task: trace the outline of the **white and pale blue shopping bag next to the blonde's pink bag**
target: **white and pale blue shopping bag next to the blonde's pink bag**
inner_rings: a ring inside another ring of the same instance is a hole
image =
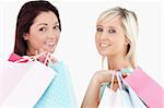
[[[137,96],[137,94],[125,82],[120,72],[116,73],[119,89],[117,91],[115,105],[118,108],[147,108],[147,105]]]

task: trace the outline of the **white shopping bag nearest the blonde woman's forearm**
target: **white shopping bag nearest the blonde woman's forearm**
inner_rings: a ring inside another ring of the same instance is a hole
[[[114,107],[115,97],[116,97],[116,92],[113,91],[114,77],[115,77],[115,74],[112,74],[112,83],[109,87],[107,86],[105,87],[98,108]]]

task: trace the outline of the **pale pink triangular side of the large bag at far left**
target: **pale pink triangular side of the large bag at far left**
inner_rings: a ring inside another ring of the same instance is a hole
[[[0,62],[0,104],[28,71],[27,65]]]

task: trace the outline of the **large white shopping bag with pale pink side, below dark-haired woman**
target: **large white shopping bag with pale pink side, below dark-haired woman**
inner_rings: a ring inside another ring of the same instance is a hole
[[[42,97],[56,72],[34,61],[4,61],[0,79],[0,108],[32,108]]]

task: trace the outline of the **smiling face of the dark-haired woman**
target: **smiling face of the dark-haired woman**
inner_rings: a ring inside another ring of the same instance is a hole
[[[36,51],[54,52],[60,37],[59,22],[51,11],[38,14],[30,32],[24,35],[27,40],[27,53],[35,55]]]

